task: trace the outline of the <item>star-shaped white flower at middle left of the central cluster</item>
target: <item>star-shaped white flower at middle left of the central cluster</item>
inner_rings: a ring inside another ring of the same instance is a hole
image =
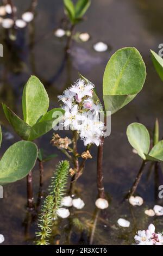
[[[78,113],[78,105],[74,105],[72,109],[65,108],[64,115],[64,126],[70,128],[72,130],[78,130],[79,121],[85,119],[85,116]]]

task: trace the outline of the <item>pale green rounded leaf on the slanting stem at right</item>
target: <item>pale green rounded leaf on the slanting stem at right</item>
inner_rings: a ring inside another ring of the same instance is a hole
[[[139,123],[133,123],[127,127],[127,137],[131,146],[137,150],[137,153],[146,160],[150,147],[150,137],[147,128]]]

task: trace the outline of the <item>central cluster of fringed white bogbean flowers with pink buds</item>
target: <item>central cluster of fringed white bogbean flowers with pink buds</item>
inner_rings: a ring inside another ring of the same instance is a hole
[[[104,123],[99,120],[102,106],[93,99],[93,88],[92,83],[79,79],[58,96],[64,103],[64,127],[76,130],[85,146],[92,143],[98,146],[104,130]]]

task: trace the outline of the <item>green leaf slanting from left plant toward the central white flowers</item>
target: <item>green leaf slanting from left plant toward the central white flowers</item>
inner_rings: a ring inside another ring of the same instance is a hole
[[[32,127],[32,131],[28,138],[29,141],[34,141],[34,139],[41,137],[48,131],[51,131],[55,125],[59,123],[63,117],[64,110],[61,108],[54,108],[47,112],[39,121]]]

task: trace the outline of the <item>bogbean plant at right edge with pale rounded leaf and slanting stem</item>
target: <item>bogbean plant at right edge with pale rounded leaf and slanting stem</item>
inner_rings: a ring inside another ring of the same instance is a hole
[[[133,196],[140,182],[144,167],[147,162],[163,161],[163,140],[159,141],[159,124],[155,122],[153,147],[150,148],[151,139],[147,128],[139,123],[130,124],[127,127],[127,137],[131,146],[137,151],[137,154],[143,159],[139,173],[136,176],[128,197]]]

